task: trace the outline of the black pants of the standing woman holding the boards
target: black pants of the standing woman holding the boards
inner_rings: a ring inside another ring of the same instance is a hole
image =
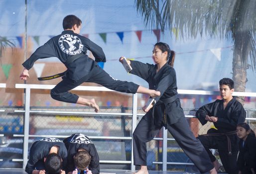
[[[134,165],[146,166],[146,142],[152,140],[159,132],[160,128],[151,131],[151,112],[147,112],[142,117],[133,132]],[[184,116],[182,116],[177,123],[168,125],[168,131],[201,173],[206,173],[213,169],[213,165],[205,148],[200,141],[195,138]]]

